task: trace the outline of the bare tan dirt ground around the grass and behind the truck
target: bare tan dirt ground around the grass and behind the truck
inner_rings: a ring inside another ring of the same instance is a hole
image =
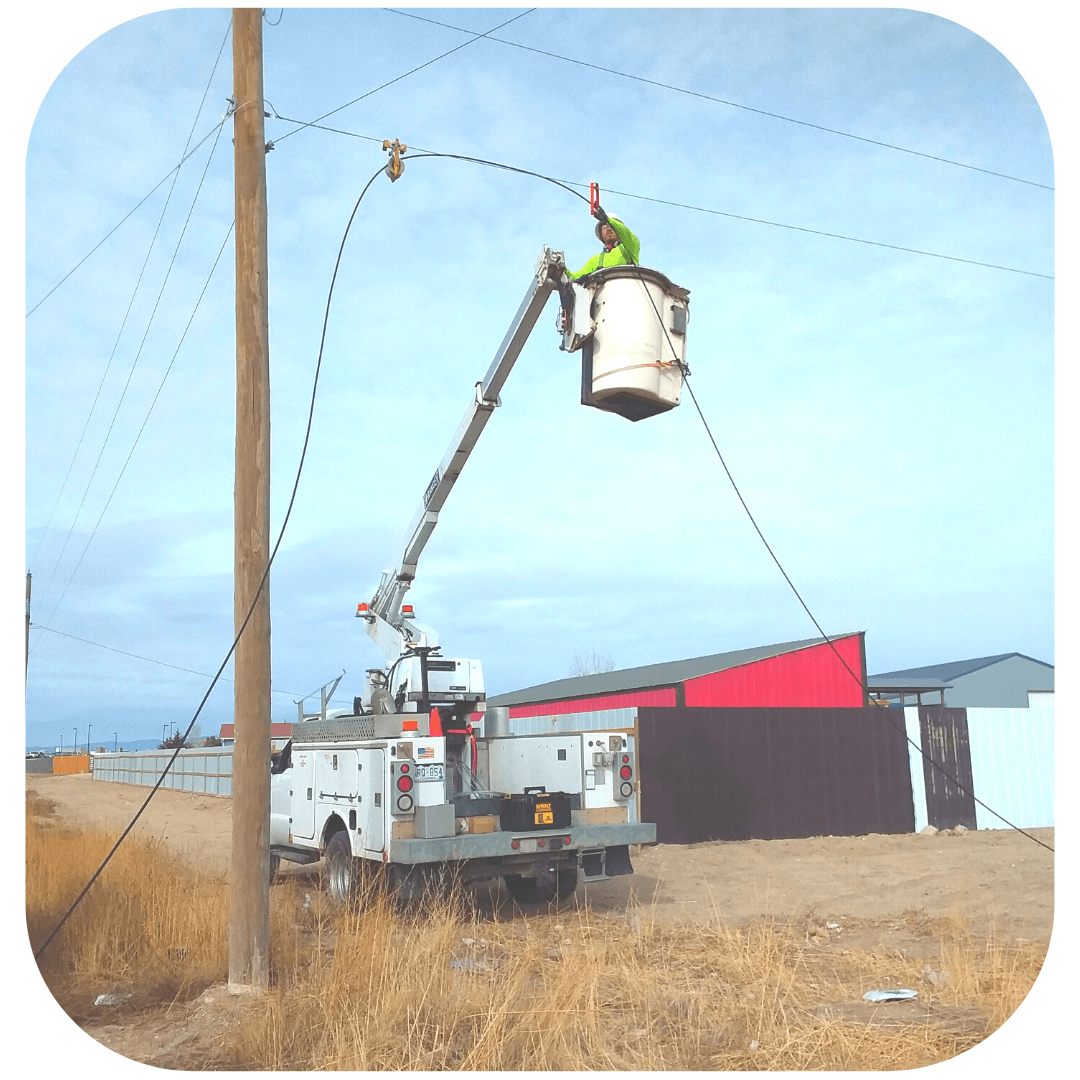
[[[149,793],[85,774],[27,775],[26,786],[52,800],[60,820],[70,815],[85,826],[117,831]],[[136,831],[190,862],[227,870],[231,810],[226,798],[162,789]],[[1054,846],[1053,829],[1031,835]],[[993,931],[1012,943],[1048,942],[1053,924],[1054,854],[1009,829],[661,845],[635,850],[633,862],[633,876],[579,888],[570,904],[588,902],[593,918],[612,921],[640,918],[643,909],[671,923],[804,921],[826,946],[928,957],[937,946],[926,928],[939,918],[959,915],[976,934]],[[316,880],[312,867],[282,867],[283,874]],[[482,915],[512,916],[497,883],[481,889],[476,903]],[[168,1041],[170,1030],[166,1024],[160,1032],[143,1032],[143,1040]],[[119,1031],[116,1039],[107,1026],[90,1034],[124,1056],[147,1061],[122,1044]],[[161,1041],[154,1044],[164,1049]],[[153,1063],[159,1061],[166,1065],[162,1058]]]

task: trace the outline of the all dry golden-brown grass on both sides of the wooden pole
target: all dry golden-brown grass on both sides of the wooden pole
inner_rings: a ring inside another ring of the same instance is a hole
[[[113,837],[33,810],[27,923],[37,948]],[[220,876],[129,838],[42,974],[80,1021],[98,993],[131,993],[145,1007],[189,1000],[227,977],[227,903]],[[599,921],[582,906],[484,920],[453,895],[419,909],[375,897],[342,913],[305,879],[275,885],[271,908],[272,989],[244,1002],[224,1045],[207,1050],[217,1067],[915,1068],[1007,1020],[1044,953],[976,940],[959,917],[912,917],[913,933],[936,941],[931,968],[948,973],[930,984],[924,955],[846,948],[805,919],[671,927],[648,908]],[[918,1004],[861,1000],[897,986],[917,988]]]

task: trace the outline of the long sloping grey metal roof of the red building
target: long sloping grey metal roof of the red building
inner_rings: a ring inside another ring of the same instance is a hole
[[[858,631],[855,632],[858,633]],[[831,640],[839,642],[854,634],[835,634]],[[715,652],[707,657],[694,657],[690,660],[671,660],[662,664],[647,664],[644,667],[624,667],[616,672],[598,672],[595,675],[577,675],[572,678],[555,679],[553,683],[541,683],[538,686],[526,687],[524,690],[512,690],[488,698],[488,705],[531,705],[543,701],[564,701],[569,698],[593,698],[608,693],[626,693],[631,690],[648,690],[653,687],[674,686],[687,679],[702,675],[713,675],[716,672],[728,671],[731,667],[742,667],[756,663],[758,660],[769,660],[782,657],[799,649],[809,649],[815,645],[824,645],[821,637],[807,637],[799,642],[783,642],[779,645],[760,645],[754,649],[739,649],[735,652]]]

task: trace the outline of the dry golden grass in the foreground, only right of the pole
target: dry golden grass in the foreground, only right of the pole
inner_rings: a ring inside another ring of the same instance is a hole
[[[453,902],[410,918],[376,901],[283,972],[230,1051],[259,1069],[915,1068],[985,1038],[1042,960],[946,920],[930,928],[932,969],[949,972],[936,987],[924,957],[822,947],[806,922],[627,922],[588,908],[484,922]],[[897,986],[919,989],[914,1010],[861,1000]]]

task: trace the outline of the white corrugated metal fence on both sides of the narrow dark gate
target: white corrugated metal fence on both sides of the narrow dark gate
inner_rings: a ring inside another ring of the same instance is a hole
[[[966,712],[972,795],[1018,828],[1053,827],[1053,708],[968,708]],[[922,748],[919,708],[909,705],[904,716],[908,738]],[[926,765],[919,750],[914,747],[909,760],[915,829],[918,832],[931,824]],[[975,825],[977,828],[1009,827],[978,802],[975,804]]]

